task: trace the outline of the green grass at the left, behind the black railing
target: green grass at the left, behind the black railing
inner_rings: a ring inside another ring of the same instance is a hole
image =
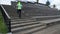
[[[2,33],[2,34],[7,33],[7,27],[4,23],[4,19],[2,17],[1,10],[0,10],[0,33]]]

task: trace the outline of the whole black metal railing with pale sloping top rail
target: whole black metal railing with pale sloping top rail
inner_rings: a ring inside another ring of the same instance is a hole
[[[11,18],[6,12],[6,10],[4,9],[3,5],[0,5],[0,9],[1,9],[1,13],[4,18],[5,24],[8,28],[8,33],[10,33],[11,32]]]

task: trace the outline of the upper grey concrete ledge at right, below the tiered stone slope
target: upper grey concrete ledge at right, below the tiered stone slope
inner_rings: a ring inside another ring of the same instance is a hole
[[[43,20],[51,20],[51,19],[57,19],[60,18],[60,15],[58,16],[36,16],[36,17],[32,17],[35,18],[36,21],[43,21]]]

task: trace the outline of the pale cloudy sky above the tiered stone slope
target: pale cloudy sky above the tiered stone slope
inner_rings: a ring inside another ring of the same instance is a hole
[[[10,5],[11,4],[11,1],[15,1],[15,0],[0,0],[0,4],[7,4],[7,5]],[[36,0],[22,0],[22,1],[36,1]],[[39,0],[39,3],[43,3],[45,4],[47,0]],[[51,7],[52,5],[56,5],[56,8],[60,9],[60,0],[49,0],[50,3],[51,3]]]

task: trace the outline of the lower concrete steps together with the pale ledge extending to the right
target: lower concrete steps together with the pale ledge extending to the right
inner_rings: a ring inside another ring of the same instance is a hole
[[[41,31],[48,26],[58,24],[60,18],[37,21],[35,19],[12,19],[11,31],[13,34],[33,34]]]

